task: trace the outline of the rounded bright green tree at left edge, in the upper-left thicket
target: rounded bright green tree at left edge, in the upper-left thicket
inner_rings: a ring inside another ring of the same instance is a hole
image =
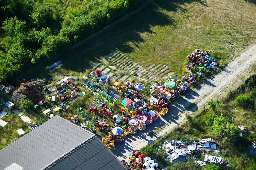
[[[17,35],[18,33],[23,33],[26,28],[26,22],[19,21],[17,17],[7,18],[3,22],[4,34],[10,37]]]

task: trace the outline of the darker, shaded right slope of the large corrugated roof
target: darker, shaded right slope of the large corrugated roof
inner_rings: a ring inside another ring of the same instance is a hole
[[[45,169],[124,170],[126,168],[102,141],[97,136],[94,136]]]

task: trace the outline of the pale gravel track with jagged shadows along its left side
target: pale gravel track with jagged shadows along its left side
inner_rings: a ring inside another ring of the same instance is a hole
[[[219,74],[213,75],[212,79],[205,80],[196,88],[186,92],[182,98],[174,101],[168,114],[156,120],[144,131],[138,131],[135,135],[129,135],[120,145],[115,146],[113,153],[120,159],[129,159],[134,151],[151,143],[158,137],[165,135],[173,128],[185,121],[185,114],[192,114],[194,111],[207,105],[210,99],[216,99],[241,80],[239,77],[247,77],[251,65],[256,63],[256,44],[244,50],[238,57],[230,62]]]

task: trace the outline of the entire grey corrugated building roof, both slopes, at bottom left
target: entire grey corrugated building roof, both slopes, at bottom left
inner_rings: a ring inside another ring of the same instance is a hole
[[[13,166],[26,170],[125,169],[97,136],[59,116],[0,150],[0,170]]]

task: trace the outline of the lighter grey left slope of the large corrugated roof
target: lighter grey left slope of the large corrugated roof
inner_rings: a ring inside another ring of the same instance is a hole
[[[42,169],[94,136],[93,133],[55,116],[1,149],[0,170],[13,163],[27,170]],[[105,146],[103,143],[102,145]]]

